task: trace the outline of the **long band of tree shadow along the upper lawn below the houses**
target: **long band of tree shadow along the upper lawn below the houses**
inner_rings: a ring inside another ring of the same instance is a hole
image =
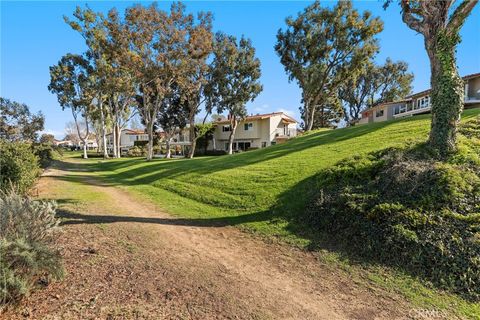
[[[410,119],[402,120],[409,121]],[[398,121],[397,121],[398,122]],[[325,146],[353,137],[360,137],[391,125],[391,121],[374,123],[371,125],[344,128],[338,130],[324,130],[314,132],[299,138],[294,138],[285,144],[275,145],[264,149],[235,154],[232,156],[200,157],[190,159],[155,159],[145,163],[144,159],[111,159],[108,161],[77,162],[72,170],[67,171],[108,171],[104,178],[118,185],[150,184],[159,179],[171,179],[177,176],[195,172],[199,175],[217,173],[223,170],[241,168],[252,164],[269,161],[280,157],[301,152],[312,147]],[[285,147],[288,144],[288,147]],[[139,166],[136,166],[136,165]],[[127,170],[123,170],[126,169]],[[119,171],[119,172],[115,172]],[[112,173],[113,172],[113,173]]]

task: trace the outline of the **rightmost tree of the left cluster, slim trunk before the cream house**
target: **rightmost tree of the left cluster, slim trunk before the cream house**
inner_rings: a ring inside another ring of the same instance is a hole
[[[238,122],[247,116],[245,104],[253,101],[262,91],[258,82],[261,75],[260,60],[249,39],[237,39],[217,33],[214,43],[210,81],[207,87],[207,107],[227,112],[230,120],[228,154],[233,153],[233,140]]]

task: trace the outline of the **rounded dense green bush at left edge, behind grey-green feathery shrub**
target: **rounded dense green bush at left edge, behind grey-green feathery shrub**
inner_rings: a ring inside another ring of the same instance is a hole
[[[0,141],[0,190],[26,193],[40,175],[38,157],[28,143]]]

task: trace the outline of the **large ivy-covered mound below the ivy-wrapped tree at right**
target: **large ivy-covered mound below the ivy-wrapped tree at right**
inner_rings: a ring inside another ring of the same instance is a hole
[[[425,145],[342,161],[320,173],[308,223],[354,256],[477,300],[480,153],[463,142],[460,150],[446,161]]]

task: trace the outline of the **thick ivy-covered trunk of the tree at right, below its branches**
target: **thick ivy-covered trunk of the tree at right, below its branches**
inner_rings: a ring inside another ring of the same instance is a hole
[[[444,32],[426,39],[431,68],[432,124],[429,143],[441,155],[457,149],[457,124],[464,105],[464,83],[455,64],[455,43]]]

